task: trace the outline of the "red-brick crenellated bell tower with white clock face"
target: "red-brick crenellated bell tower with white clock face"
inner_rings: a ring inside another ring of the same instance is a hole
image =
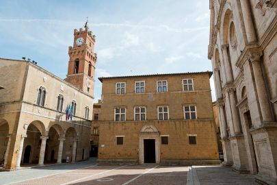
[[[94,53],[95,36],[88,28],[74,29],[73,47],[68,48],[69,62],[66,81],[84,93],[94,95],[94,71],[97,55]]]

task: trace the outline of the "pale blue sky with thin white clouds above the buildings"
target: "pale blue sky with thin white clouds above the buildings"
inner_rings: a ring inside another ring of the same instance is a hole
[[[98,77],[211,71],[209,1],[1,1],[0,58],[38,62],[65,78],[73,29],[96,35],[95,101]],[[211,77],[215,100],[213,77]]]

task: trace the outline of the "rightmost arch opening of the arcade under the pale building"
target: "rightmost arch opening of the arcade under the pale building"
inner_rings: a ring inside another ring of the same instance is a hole
[[[64,142],[62,159],[68,162],[75,162],[77,149],[77,133],[74,127],[69,127],[68,130],[66,130],[65,138],[66,140]]]

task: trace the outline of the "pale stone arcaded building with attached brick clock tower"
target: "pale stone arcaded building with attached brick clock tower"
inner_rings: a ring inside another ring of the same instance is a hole
[[[0,164],[4,169],[89,158],[94,41],[87,26],[74,30],[66,79],[36,62],[0,59]],[[72,119],[66,119],[68,106]]]

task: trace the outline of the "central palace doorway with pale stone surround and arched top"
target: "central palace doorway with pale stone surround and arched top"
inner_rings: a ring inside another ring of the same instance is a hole
[[[140,164],[159,163],[159,132],[153,125],[145,125],[140,131]]]

